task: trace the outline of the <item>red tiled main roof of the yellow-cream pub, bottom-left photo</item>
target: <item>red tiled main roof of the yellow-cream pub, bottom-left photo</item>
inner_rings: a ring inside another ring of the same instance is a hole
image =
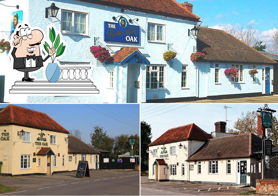
[[[36,129],[70,133],[47,114],[16,105],[8,105],[0,110],[1,124],[14,124]]]

